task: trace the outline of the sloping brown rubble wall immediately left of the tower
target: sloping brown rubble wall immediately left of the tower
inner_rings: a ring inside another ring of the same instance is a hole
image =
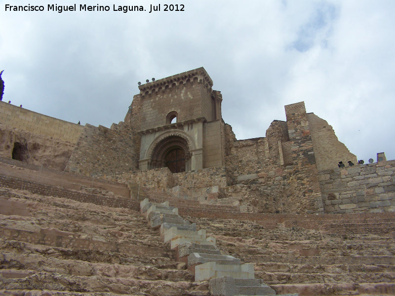
[[[66,170],[85,176],[114,175],[137,169],[139,157],[131,126],[120,122],[111,129],[86,124]]]

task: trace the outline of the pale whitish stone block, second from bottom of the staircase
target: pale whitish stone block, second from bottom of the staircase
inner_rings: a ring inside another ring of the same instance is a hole
[[[254,264],[246,263],[243,265],[217,264],[207,262],[195,267],[195,281],[205,281],[221,276],[231,276],[238,279],[253,279]]]

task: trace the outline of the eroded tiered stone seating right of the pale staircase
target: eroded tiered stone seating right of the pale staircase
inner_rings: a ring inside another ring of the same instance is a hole
[[[314,221],[313,216],[305,219]],[[339,225],[341,216],[335,217]],[[376,233],[370,229],[363,233],[362,217],[354,216],[356,223],[345,216],[344,223],[353,225],[349,233],[341,226],[322,231],[278,223],[268,229],[248,220],[188,219],[206,228],[222,253],[254,263],[255,277],[277,294],[394,295],[394,223],[385,218],[377,223]],[[339,234],[331,233],[339,229],[343,229]]]

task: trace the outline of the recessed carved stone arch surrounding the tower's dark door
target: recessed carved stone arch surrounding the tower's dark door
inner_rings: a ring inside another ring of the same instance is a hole
[[[192,150],[194,150],[192,140],[181,131],[171,131],[160,135],[153,141],[147,150],[149,168],[161,168],[166,166],[166,157],[173,150],[181,150],[184,159],[184,171],[189,171],[191,166]]]

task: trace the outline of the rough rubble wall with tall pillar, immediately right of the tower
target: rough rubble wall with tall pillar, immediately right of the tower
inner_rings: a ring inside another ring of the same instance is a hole
[[[240,206],[262,213],[322,211],[313,144],[304,103],[285,107],[287,122],[274,120],[265,138],[237,141],[226,127],[225,197],[241,197]]]

